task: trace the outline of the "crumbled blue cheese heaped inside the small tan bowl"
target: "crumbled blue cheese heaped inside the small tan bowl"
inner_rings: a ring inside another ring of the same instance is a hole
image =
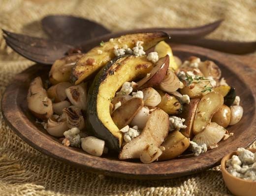
[[[226,170],[235,177],[256,181],[256,153],[238,148],[239,155],[226,161]]]

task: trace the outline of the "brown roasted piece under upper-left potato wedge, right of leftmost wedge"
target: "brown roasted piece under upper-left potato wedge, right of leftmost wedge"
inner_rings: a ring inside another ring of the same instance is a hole
[[[65,89],[70,87],[71,84],[69,82],[60,82],[54,86],[51,86],[47,90],[47,94],[49,98],[52,98],[55,103],[64,101],[66,99]]]

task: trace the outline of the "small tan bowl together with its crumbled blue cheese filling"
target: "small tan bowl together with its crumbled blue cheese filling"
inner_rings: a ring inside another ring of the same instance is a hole
[[[256,153],[256,148],[248,148],[247,150]],[[251,168],[255,165],[256,158],[254,158],[253,164],[248,163],[252,157],[249,157],[247,150],[238,148],[238,151],[227,154],[222,159],[221,171],[224,182],[228,190],[235,196],[255,196],[256,194],[256,180],[253,180],[256,169]],[[250,168],[251,171],[249,171]],[[250,172],[251,177],[246,177],[246,172],[243,170]]]

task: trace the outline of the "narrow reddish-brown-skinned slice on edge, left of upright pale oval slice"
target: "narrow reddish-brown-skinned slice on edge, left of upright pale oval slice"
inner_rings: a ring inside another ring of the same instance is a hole
[[[196,114],[197,106],[199,103],[200,99],[199,98],[192,98],[190,100],[189,104],[184,104],[183,105],[183,112],[179,116],[180,118],[185,119],[184,125],[187,126],[187,128],[181,129],[181,133],[185,135],[187,138],[192,138],[193,137],[193,132],[192,132],[192,125],[194,122],[194,117]]]

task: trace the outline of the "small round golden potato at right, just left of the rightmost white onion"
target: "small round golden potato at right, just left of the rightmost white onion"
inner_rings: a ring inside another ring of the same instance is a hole
[[[222,105],[221,108],[213,115],[212,122],[217,123],[224,128],[230,123],[231,111],[226,105]]]

